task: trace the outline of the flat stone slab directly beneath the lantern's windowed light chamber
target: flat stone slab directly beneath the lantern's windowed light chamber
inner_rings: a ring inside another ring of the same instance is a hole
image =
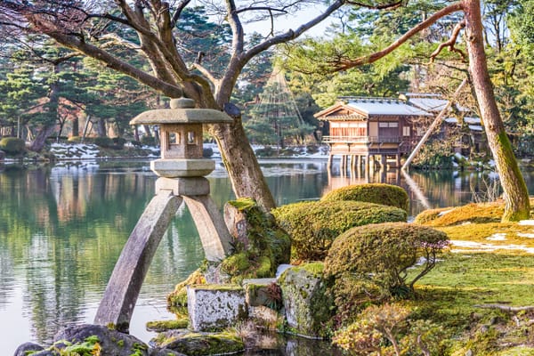
[[[215,161],[207,158],[156,159],[150,169],[160,177],[203,177],[215,169]]]

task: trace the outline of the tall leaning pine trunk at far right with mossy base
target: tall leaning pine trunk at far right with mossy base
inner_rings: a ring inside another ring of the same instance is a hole
[[[488,73],[482,36],[481,5],[479,0],[463,0],[465,37],[469,53],[469,73],[473,81],[476,100],[481,111],[488,144],[497,165],[498,175],[506,202],[503,222],[529,219],[529,191],[514,157],[512,145],[498,111]]]

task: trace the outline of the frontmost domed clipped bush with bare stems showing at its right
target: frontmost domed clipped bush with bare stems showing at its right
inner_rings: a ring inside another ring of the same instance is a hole
[[[334,241],[325,260],[325,273],[336,279],[350,274],[390,295],[407,296],[417,280],[433,269],[437,253],[447,243],[444,232],[410,223],[360,226]],[[421,267],[408,274],[418,261]]]

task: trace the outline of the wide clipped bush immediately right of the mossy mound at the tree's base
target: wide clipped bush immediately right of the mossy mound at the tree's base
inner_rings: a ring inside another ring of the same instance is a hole
[[[294,257],[320,261],[332,241],[354,226],[405,222],[404,210],[360,201],[319,201],[280,206],[271,211],[292,239]]]

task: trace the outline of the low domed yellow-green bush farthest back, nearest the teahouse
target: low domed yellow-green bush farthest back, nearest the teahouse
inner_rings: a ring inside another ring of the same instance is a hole
[[[330,191],[323,201],[356,200],[368,203],[382,204],[384,206],[397,206],[408,211],[409,197],[406,190],[401,187],[384,183],[368,183],[348,185]]]

